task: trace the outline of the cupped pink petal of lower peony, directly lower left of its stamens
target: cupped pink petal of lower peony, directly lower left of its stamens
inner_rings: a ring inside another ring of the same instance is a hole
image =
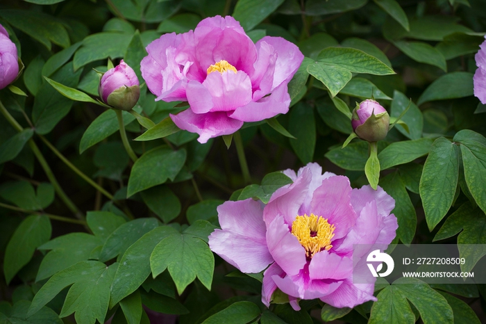
[[[305,265],[305,249],[292,235],[283,216],[267,225],[267,245],[272,257],[287,275],[296,275]]]

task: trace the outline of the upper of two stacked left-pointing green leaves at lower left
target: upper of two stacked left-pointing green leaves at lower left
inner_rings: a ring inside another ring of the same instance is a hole
[[[79,261],[90,259],[91,252],[102,244],[96,236],[70,233],[40,245],[39,250],[51,251],[42,259],[35,281],[47,279]]]

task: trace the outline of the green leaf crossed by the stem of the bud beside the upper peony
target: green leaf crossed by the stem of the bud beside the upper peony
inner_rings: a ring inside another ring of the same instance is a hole
[[[125,125],[130,124],[135,120],[135,117],[128,113],[128,111],[122,111],[121,114],[123,115],[123,122]],[[83,133],[81,143],[79,143],[79,154],[112,135],[112,133],[115,133],[118,129],[119,126],[115,111],[109,109],[108,111],[101,113],[101,115],[93,120]]]

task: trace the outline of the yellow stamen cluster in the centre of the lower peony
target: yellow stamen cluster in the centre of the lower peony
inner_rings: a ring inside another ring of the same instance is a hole
[[[299,239],[309,258],[323,249],[330,250],[333,247],[330,240],[334,237],[335,228],[328,223],[327,218],[315,216],[313,213],[310,216],[297,216],[292,222],[292,234]]]

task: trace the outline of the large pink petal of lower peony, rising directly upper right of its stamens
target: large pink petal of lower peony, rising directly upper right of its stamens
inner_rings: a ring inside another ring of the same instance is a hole
[[[310,211],[328,219],[335,226],[334,239],[348,234],[356,222],[356,213],[351,206],[351,186],[343,176],[329,177],[314,191]]]

